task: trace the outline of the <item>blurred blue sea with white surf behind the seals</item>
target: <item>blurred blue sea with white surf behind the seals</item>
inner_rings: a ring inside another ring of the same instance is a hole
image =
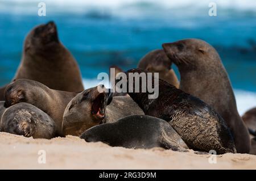
[[[46,3],[46,16],[38,16],[39,2]],[[217,16],[208,15],[209,2],[216,2]],[[256,106],[254,0],[0,0],[0,86],[13,78],[27,33],[49,20],[78,61],[86,88],[96,85],[98,73],[108,73],[110,65],[135,68],[162,43],[195,37],[220,54],[238,111]]]

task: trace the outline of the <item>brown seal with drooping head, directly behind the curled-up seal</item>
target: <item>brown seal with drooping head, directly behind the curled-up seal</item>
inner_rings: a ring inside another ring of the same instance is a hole
[[[55,121],[57,136],[63,136],[61,129],[63,113],[68,103],[76,95],[76,92],[49,89],[40,82],[18,79],[6,87],[5,104],[6,107],[10,107],[20,102],[26,102],[38,107]]]

